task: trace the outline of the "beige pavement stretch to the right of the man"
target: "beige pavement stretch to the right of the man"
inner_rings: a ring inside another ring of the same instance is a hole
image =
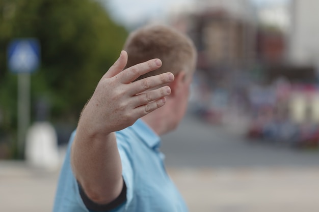
[[[319,168],[170,169],[191,212],[319,211]]]

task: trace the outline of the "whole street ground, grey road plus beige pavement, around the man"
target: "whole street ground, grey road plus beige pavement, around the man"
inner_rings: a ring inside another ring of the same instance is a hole
[[[163,137],[167,171],[190,211],[317,211],[319,154],[255,143],[188,114]],[[63,153],[63,149],[62,152]],[[58,171],[0,162],[1,211],[50,211]]]

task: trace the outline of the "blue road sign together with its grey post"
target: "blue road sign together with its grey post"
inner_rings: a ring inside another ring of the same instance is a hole
[[[36,39],[17,39],[7,50],[8,67],[18,74],[17,151],[23,157],[25,134],[30,125],[30,74],[39,67],[40,45]]]

